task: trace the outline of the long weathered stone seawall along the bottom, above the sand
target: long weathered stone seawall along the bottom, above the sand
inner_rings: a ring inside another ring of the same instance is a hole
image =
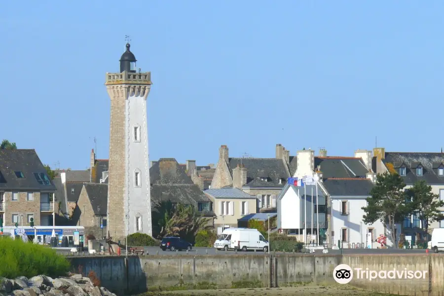
[[[181,255],[71,257],[73,271],[96,272],[102,285],[114,293],[147,290],[231,287],[285,287],[301,283],[334,284],[339,264],[369,270],[421,270],[421,279],[362,279],[356,271],[348,284],[366,290],[411,296],[444,296],[444,256],[441,254],[384,255]]]

